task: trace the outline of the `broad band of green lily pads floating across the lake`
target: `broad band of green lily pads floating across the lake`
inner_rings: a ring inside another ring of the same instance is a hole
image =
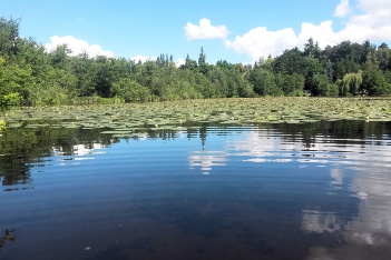
[[[194,126],[307,123],[321,120],[391,121],[391,99],[256,98],[170,102],[22,107],[4,110],[7,128],[102,129],[102,134],[144,137]]]

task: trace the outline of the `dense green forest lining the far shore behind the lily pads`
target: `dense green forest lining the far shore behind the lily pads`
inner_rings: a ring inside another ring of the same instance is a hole
[[[303,51],[260,58],[254,64],[209,64],[201,48],[177,67],[173,56],[146,62],[47,51],[19,37],[20,19],[0,18],[0,104],[136,102],[258,96],[370,96],[391,92],[391,50],[343,41],[323,50],[309,39]]]

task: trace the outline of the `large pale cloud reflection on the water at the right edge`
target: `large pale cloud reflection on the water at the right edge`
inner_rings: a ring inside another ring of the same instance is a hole
[[[377,143],[371,147],[368,143]],[[316,144],[319,148],[321,143]],[[345,178],[342,169],[331,169],[331,184],[349,189],[358,201],[358,211],[346,220],[334,212],[303,211],[302,228],[311,232],[339,232],[343,243],[338,250],[313,248],[309,259],[389,259],[391,253],[391,174],[389,141],[366,141],[350,146],[341,161],[353,164],[355,174]],[[373,254],[372,254],[373,253]]]

